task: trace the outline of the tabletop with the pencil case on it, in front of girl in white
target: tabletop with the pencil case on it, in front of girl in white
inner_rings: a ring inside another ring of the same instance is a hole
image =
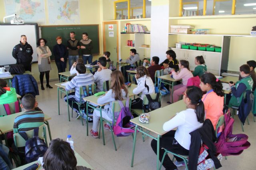
[[[183,100],[180,100],[174,104],[171,104],[166,107],[161,107],[159,109],[156,109],[154,111],[150,111],[150,121],[148,124],[141,123],[139,121],[139,117],[136,117],[134,119],[131,119],[130,121],[132,123],[135,123],[136,125],[143,127],[149,131],[152,131],[158,135],[164,135],[167,133],[167,131],[163,130],[163,125],[166,121],[170,120],[172,117],[176,115],[176,113],[185,110],[186,105],[184,104]]]

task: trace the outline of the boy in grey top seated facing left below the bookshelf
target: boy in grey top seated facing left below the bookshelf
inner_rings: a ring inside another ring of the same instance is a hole
[[[130,64],[127,66],[122,66],[121,67],[121,71],[124,70],[124,80],[127,82],[128,81],[128,74],[126,72],[126,70],[129,70],[130,68],[132,68],[135,65],[136,61],[140,60],[140,56],[138,53],[136,53],[136,49],[130,49],[130,57],[127,58],[126,63]]]

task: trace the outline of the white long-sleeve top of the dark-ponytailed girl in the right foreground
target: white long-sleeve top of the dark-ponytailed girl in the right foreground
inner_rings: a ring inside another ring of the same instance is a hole
[[[189,150],[191,143],[191,136],[189,133],[202,126],[203,123],[200,123],[197,120],[195,110],[186,109],[180,113],[177,113],[176,116],[165,122],[163,129],[164,131],[170,131],[175,127],[178,127],[174,138],[182,147]]]

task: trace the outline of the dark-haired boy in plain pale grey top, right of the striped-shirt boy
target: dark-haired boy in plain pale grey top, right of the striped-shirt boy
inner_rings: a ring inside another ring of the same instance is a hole
[[[97,83],[97,92],[103,91],[103,82],[106,80],[110,80],[112,71],[108,68],[106,68],[106,58],[105,57],[100,57],[99,58],[99,68],[98,71],[95,72],[94,74],[94,81]]]

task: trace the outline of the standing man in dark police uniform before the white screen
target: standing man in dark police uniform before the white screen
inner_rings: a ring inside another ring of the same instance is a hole
[[[26,71],[31,72],[33,49],[27,42],[26,35],[20,36],[20,43],[12,50],[12,57],[16,59],[16,64],[22,64]]]

